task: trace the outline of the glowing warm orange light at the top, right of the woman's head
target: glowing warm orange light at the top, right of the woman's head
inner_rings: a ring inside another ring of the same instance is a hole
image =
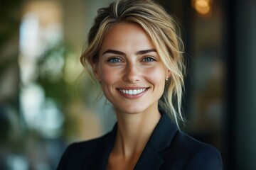
[[[211,3],[210,0],[194,0],[193,7],[201,15],[208,15],[210,13]]]

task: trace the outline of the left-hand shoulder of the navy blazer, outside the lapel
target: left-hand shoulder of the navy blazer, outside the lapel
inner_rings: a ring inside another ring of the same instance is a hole
[[[93,157],[97,150],[100,149],[102,143],[107,141],[110,133],[102,137],[84,142],[74,142],[65,149],[57,169],[80,169],[85,159]]]

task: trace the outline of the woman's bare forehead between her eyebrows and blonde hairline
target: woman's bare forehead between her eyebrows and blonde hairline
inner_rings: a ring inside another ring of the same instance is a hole
[[[117,23],[105,34],[102,50],[145,50],[154,45],[146,31],[137,23]]]

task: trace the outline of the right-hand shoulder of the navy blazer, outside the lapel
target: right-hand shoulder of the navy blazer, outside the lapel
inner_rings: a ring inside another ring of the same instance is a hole
[[[174,162],[180,163],[178,166],[182,164],[183,169],[223,169],[218,149],[179,130],[171,142],[169,152],[175,155]]]

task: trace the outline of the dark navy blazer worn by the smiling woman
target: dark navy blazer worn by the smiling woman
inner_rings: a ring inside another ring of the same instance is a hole
[[[218,149],[181,132],[161,114],[134,169],[223,169]],[[117,125],[103,137],[69,145],[57,169],[106,169],[116,133]]]

